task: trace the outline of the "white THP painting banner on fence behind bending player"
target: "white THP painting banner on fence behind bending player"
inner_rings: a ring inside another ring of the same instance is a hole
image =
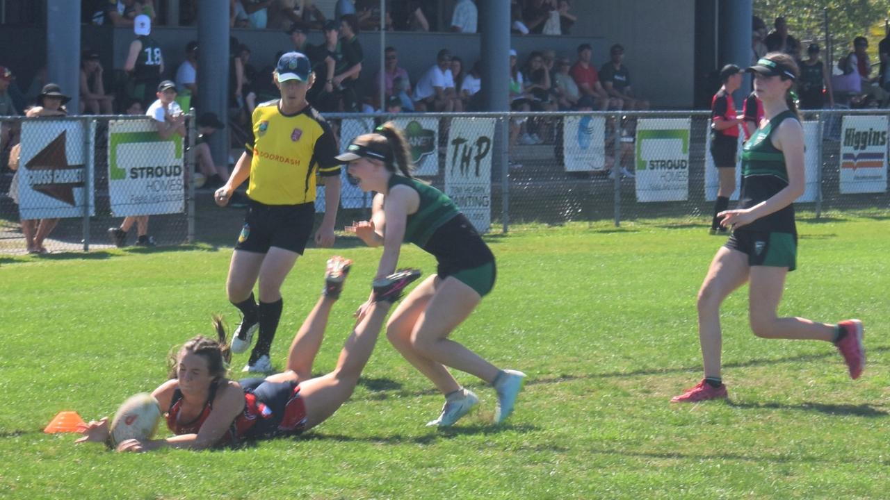
[[[454,118],[445,157],[445,194],[481,233],[491,226],[494,133],[494,118]]]

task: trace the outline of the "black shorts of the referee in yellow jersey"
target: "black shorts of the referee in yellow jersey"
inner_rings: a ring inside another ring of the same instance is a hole
[[[235,250],[265,254],[269,247],[277,246],[302,255],[313,222],[314,203],[263,205],[250,200]]]

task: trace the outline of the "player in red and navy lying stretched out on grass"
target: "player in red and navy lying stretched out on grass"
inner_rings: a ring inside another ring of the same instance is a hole
[[[170,380],[151,393],[166,412],[167,427],[175,436],[124,440],[117,451],[235,445],[239,440],[299,434],[334,415],[359,382],[392,303],[405,286],[420,277],[418,270],[401,270],[376,280],[374,300],[346,339],[336,368],[327,375],[310,378],[331,308],[351,263],[342,257],[328,261],[324,293],[291,344],[287,371],[239,382],[226,378],[229,346],[217,319],[214,322],[219,339],[198,335],[185,343],[172,359]],[[108,418],[87,423],[80,431],[84,437],[77,442],[107,442]]]

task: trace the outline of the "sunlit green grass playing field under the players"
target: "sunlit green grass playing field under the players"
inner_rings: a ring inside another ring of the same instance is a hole
[[[494,392],[458,374],[481,409],[452,429],[426,428],[441,396],[382,335],[328,422],[295,440],[200,453],[114,454],[42,429],[58,411],[89,420],[152,390],[171,346],[209,334],[212,313],[237,323],[223,286],[231,250],[0,260],[0,497],[886,498],[887,225],[802,219],[780,310],[862,319],[869,364],[858,381],[829,343],[752,335],[743,288],[724,304],[730,400],[672,405],[701,377],[695,294],[722,239],[670,221],[527,228],[488,239],[498,285],[453,337],[529,374],[508,424],[491,425]],[[336,252],[356,265],[318,373],[334,366],[379,256],[342,244]],[[285,283],[276,367],[329,254],[310,249]],[[435,269],[415,248],[400,263]]]

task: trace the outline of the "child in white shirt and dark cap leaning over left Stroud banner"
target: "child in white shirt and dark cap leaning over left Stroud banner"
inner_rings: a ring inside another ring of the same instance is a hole
[[[149,109],[145,111],[147,117],[151,117],[155,121],[158,135],[161,139],[168,139],[174,133],[185,137],[185,115],[179,104],[176,104],[176,84],[170,80],[164,80],[158,84],[158,92],[156,93],[158,100],[151,103]],[[130,111],[134,112],[135,107],[131,107]],[[155,246],[155,238],[149,235],[149,216],[136,215],[124,217],[119,228],[109,228],[109,238],[111,242],[118,248],[126,246],[126,235],[129,230],[136,224],[136,246]]]

